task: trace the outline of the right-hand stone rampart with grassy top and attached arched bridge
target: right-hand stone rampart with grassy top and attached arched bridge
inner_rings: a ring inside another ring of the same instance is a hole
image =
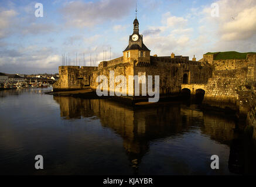
[[[246,114],[251,88],[256,82],[256,53],[206,53],[199,61],[211,65],[207,84],[183,84],[182,91],[189,90],[192,95],[203,91],[204,103],[239,108]]]

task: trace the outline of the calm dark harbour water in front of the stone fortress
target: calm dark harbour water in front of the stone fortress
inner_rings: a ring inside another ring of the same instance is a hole
[[[255,168],[255,148],[233,118],[193,105],[131,108],[47,90],[0,91],[1,174],[232,175]],[[210,168],[214,154],[219,170]]]

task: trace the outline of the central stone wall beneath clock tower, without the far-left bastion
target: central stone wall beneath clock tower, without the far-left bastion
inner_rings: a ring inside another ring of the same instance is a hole
[[[139,65],[135,60],[133,63],[120,63],[122,58],[117,58],[113,61],[101,62],[98,71],[93,72],[91,79],[91,88],[96,89],[100,83],[96,82],[96,78],[99,75],[105,75],[108,78],[108,91],[110,89],[110,71],[114,71],[115,77],[118,75],[125,75],[127,79],[127,95],[129,91],[129,75],[152,75],[153,76],[153,88],[154,77],[159,75],[160,94],[175,94],[179,93],[181,89],[183,75],[187,74],[190,82],[206,83],[207,79],[211,77],[210,65],[203,64],[197,61],[187,61],[182,58],[170,58],[170,57],[152,57],[151,63]],[[115,82],[115,86],[120,82]],[[141,94],[140,85],[140,94]],[[133,89],[133,88],[131,88]],[[121,90],[120,90],[121,92]]]

